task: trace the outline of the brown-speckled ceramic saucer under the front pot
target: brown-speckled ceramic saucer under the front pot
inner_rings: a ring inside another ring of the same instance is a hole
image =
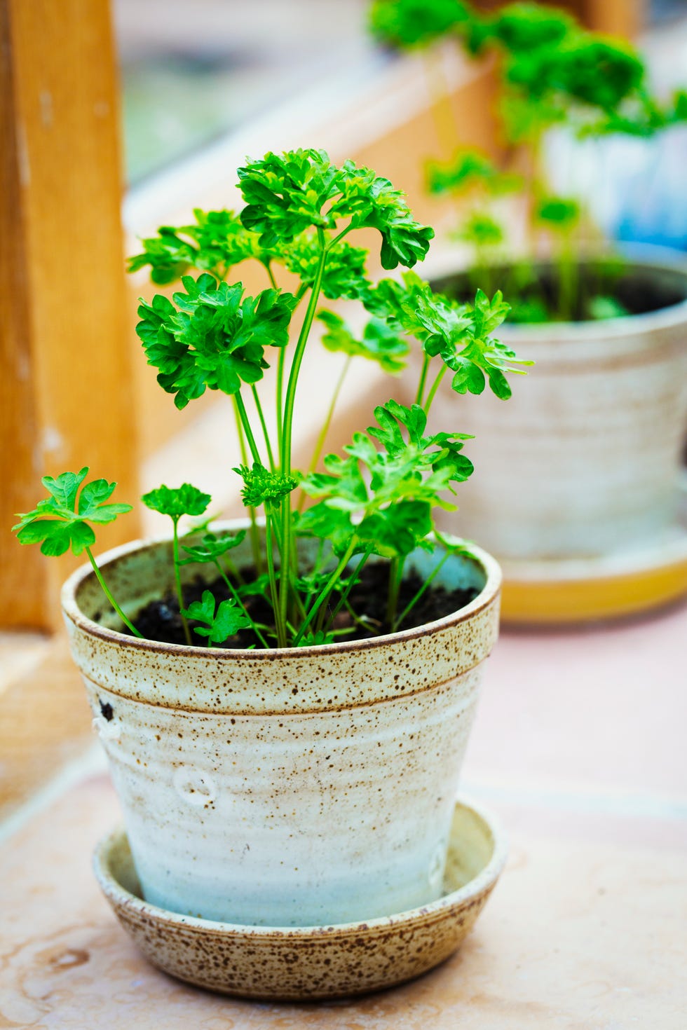
[[[289,928],[214,923],[147,904],[123,829],[98,845],[94,867],[127,933],[165,972],[222,994],[306,1001],[392,987],[443,962],[472,929],[506,855],[492,817],[459,801],[438,901],[367,923]]]

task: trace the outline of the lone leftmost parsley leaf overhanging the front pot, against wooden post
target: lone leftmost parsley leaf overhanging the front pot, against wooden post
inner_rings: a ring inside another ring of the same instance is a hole
[[[78,495],[79,487],[89,474],[84,466],[79,472],[63,472],[59,476],[43,476],[41,482],[49,497],[39,501],[33,511],[19,514],[12,526],[20,544],[41,544],[43,554],[58,556],[70,550],[81,554],[96,542],[90,522],[102,525],[113,522],[117,515],[131,511],[131,505],[107,504],[116,483],[94,479]],[[78,496],[78,503],[77,503]]]

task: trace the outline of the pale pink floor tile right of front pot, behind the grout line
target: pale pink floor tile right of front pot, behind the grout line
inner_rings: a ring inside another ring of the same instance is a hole
[[[502,632],[480,705],[471,778],[684,802],[687,608],[588,630]]]

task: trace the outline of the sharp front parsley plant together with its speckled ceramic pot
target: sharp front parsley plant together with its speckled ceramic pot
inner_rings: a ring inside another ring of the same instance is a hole
[[[434,529],[473,467],[466,435],[428,434],[426,419],[447,371],[460,392],[484,377],[505,390],[514,355],[493,333],[508,308],[500,294],[447,301],[412,272],[373,284],[349,237],[376,230],[383,267],[411,268],[433,231],[369,169],[298,150],[238,174],[240,214],[197,211],[131,267],[181,276],[171,300],[141,302],[138,334],[178,408],[206,389],[233,405],[245,524],[190,526],[210,496],[163,485],[143,502],[170,536],[96,561],[94,527],[129,506],[81,469],[45,477],[49,496],[15,529],[90,559],[63,606],[145,898],[251,925],[374,918],[441,891],[500,573]],[[228,282],[248,260],[265,269],[256,297]],[[323,297],[359,300],[364,332],[320,310]],[[378,407],[344,455],[303,475],[293,426],[317,319],[327,346],[390,372],[412,341],[422,372],[413,404]]]

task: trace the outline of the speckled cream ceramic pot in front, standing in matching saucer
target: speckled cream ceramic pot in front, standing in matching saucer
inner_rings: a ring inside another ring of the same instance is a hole
[[[181,647],[117,631],[95,576],[67,581],[72,653],[147,901],[203,919],[329,925],[439,897],[501,573],[475,548],[440,581],[466,608],[373,641]],[[247,542],[233,552],[250,563]],[[416,564],[434,561],[418,555]],[[172,586],[171,544],[101,559],[129,615]],[[427,566],[420,568],[426,574]],[[208,568],[184,566],[184,576]]]

